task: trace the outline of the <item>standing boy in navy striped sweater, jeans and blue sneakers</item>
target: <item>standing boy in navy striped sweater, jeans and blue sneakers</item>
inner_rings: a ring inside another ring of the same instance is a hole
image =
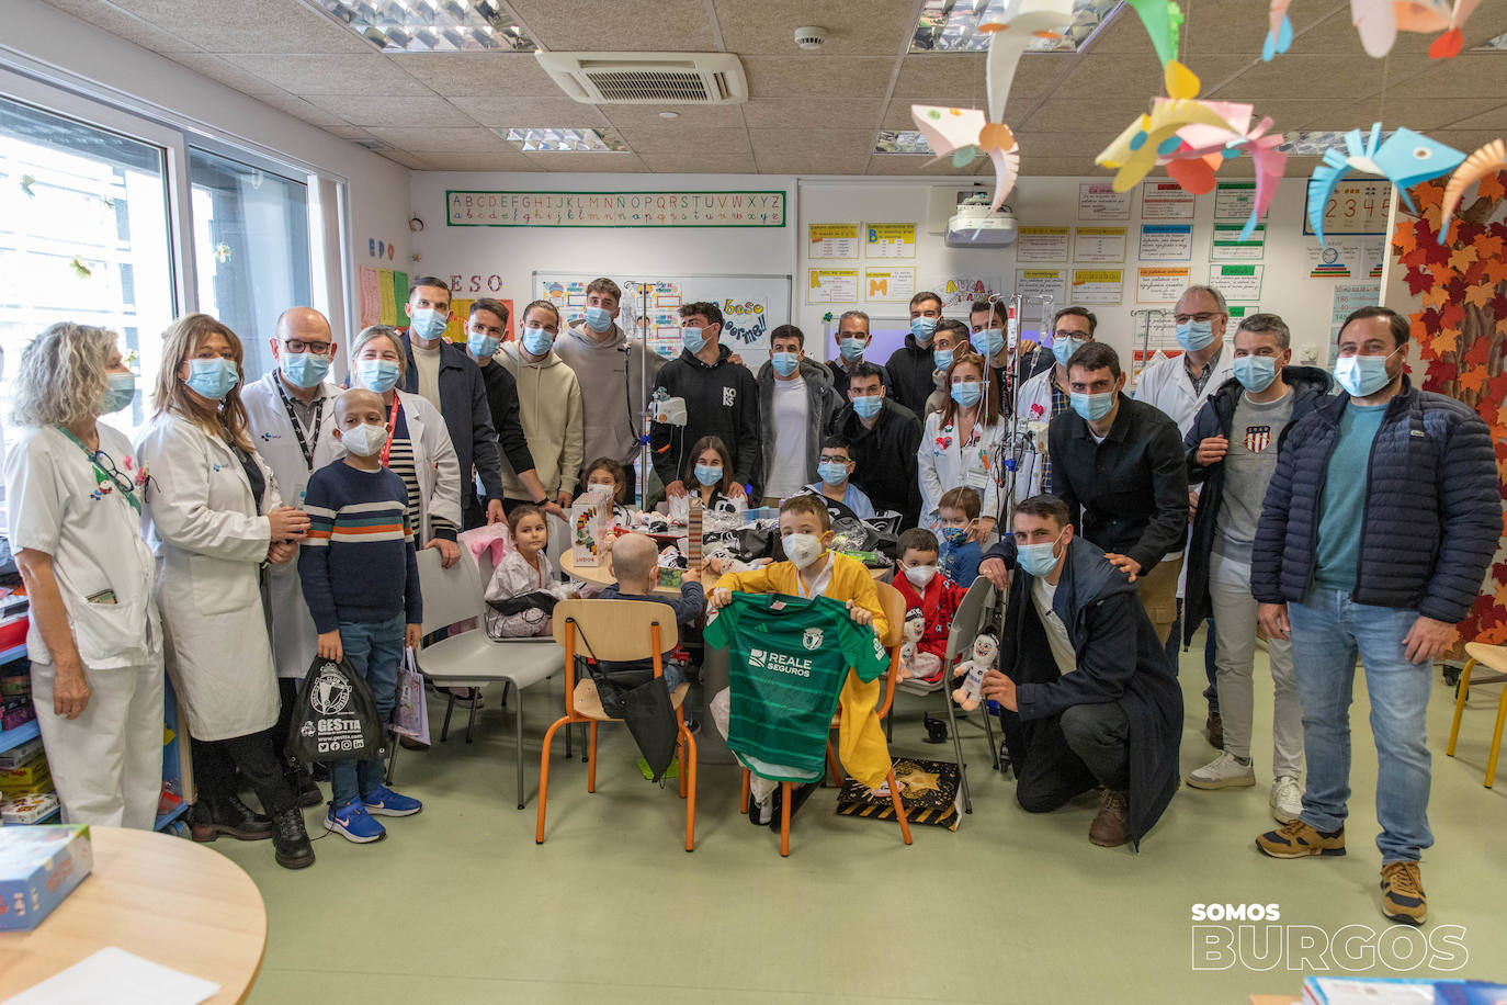
[[[318,652],[366,678],[383,722],[392,714],[404,646],[419,645],[419,562],[408,526],[408,490],[383,467],[392,435],[381,398],[351,389],[335,401],[335,437],[345,457],[309,479],[309,536],[298,554],[303,597],[319,633]],[[324,829],[365,844],[387,832],[374,817],[411,817],[423,805],[383,785],[381,761],[330,765],[335,799]]]

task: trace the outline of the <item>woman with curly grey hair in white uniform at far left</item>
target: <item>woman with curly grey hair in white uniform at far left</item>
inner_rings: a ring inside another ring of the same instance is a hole
[[[113,331],[59,322],[27,344],[5,482],[30,597],[32,699],[63,817],[157,821],[163,631],[131,441],[98,422],[136,395]]]

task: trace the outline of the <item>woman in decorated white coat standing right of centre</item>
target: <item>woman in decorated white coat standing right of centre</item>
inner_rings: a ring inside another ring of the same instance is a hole
[[[961,350],[946,369],[946,407],[927,416],[916,448],[921,479],[921,526],[942,526],[937,503],[949,488],[972,488],[983,499],[977,538],[987,539],[999,514],[999,446],[1008,434],[999,402],[999,381],[984,357]]]

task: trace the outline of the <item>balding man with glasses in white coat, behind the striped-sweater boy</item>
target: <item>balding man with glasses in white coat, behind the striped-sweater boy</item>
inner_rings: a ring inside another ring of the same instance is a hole
[[[309,475],[335,461],[341,448],[335,426],[335,398],[341,389],[329,383],[336,344],[330,322],[310,307],[289,307],[277,318],[270,339],[277,368],[241,392],[252,438],[262,461],[273,469],[282,497],[303,506]],[[313,661],[313,618],[303,603],[298,564],[267,568],[267,616],[271,619],[273,658],[282,690],[282,714],[274,731],[282,750],[298,683]],[[288,770],[288,784],[300,806],[324,802],[319,787],[303,770]]]

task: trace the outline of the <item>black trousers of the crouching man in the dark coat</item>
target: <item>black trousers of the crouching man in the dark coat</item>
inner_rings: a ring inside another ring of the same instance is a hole
[[[1103,785],[1130,788],[1130,720],[1117,702],[1073,705],[1059,716],[1022,723],[1026,759],[1016,800],[1046,814]]]

